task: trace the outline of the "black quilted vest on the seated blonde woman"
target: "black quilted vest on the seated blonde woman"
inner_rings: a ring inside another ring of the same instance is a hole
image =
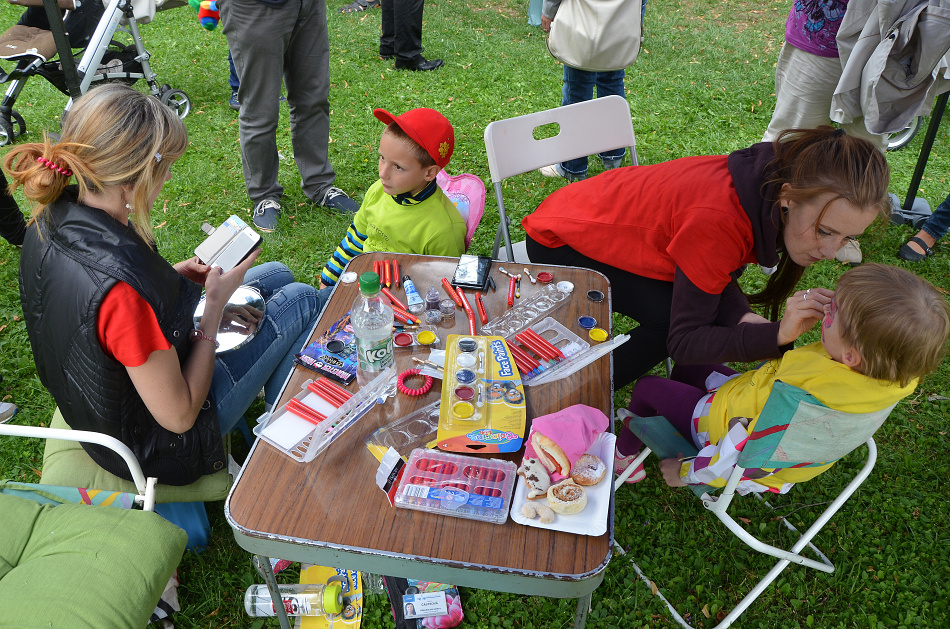
[[[136,392],[128,373],[102,350],[96,319],[117,281],[132,286],[152,307],[184,364],[188,332],[201,287],[181,276],[131,227],[76,202],[70,187],[30,225],[20,256],[20,301],[40,381],[66,422],[125,443],[146,476],[186,485],[225,466],[218,418],[209,399],[183,434],[162,428]],[[39,230],[37,230],[37,226]],[[111,450],[83,444],[89,456],[116,476],[128,467]]]

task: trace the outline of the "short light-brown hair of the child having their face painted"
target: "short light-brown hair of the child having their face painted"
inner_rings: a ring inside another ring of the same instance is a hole
[[[834,299],[841,338],[858,350],[864,375],[903,387],[940,366],[950,308],[927,280],[886,264],[862,264],[841,276]]]

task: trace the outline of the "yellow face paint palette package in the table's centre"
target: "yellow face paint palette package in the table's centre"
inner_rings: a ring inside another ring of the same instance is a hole
[[[515,452],[524,437],[524,386],[505,341],[446,338],[438,446],[466,453]]]

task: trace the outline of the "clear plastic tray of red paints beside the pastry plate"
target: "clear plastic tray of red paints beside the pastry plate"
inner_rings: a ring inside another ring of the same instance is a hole
[[[399,481],[395,503],[403,509],[504,524],[517,470],[511,461],[417,448]]]

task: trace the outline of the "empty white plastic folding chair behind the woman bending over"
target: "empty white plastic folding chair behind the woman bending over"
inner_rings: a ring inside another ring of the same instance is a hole
[[[557,135],[536,140],[534,130],[547,124],[559,126]],[[636,138],[630,105],[616,95],[497,120],[485,127],[485,152],[488,153],[488,170],[495,187],[499,216],[492,257],[498,259],[504,237],[507,259],[528,261],[516,257],[511,246],[502,181],[549,164],[628,146],[630,159],[636,165]]]

